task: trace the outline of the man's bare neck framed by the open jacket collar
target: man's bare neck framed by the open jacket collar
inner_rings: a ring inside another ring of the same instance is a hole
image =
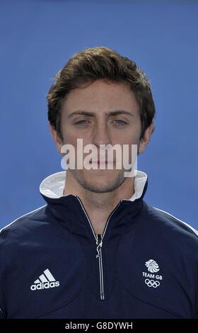
[[[134,178],[125,178],[115,191],[96,193],[83,188],[71,172],[66,172],[64,196],[73,194],[78,196],[88,213],[95,234],[102,234],[107,218],[122,199],[129,199],[134,194]]]

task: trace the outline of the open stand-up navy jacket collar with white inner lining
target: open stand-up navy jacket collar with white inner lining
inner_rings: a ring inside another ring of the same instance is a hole
[[[93,238],[94,230],[88,218],[83,203],[78,196],[63,196],[66,171],[60,171],[45,178],[40,184],[40,193],[47,202],[46,212],[50,214],[50,221],[56,225],[69,229],[83,239]],[[107,236],[113,237],[115,233],[125,230],[132,219],[139,214],[143,205],[144,194],[148,186],[147,175],[137,171],[134,180],[134,195],[129,199],[122,199],[117,207],[110,213],[110,223],[107,220]]]

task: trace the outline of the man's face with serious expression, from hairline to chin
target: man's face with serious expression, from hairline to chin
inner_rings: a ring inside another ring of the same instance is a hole
[[[81,114],[81,111],[91,114]],[[114,111],[121,112],[115,114]],[[144,152],[151,135],[150,128],[140,142],[139,105],[129,87],[124,83],[109,84],[103,80],[74,89],[66,96],[61,129],[61,145],[70,144],[76,149],[77,139],[83,139],[83,147],[88,144],[97,147],[98,159],[100,145],[137,145],[138,151]],[[58,145],[59,151],[61,145]],[[88,154],[90,152],[83,157]],[[98,193],[114,191],[126,179],[124,169],[116,169],[115,153],[113,169],[106,166],[106,169],[70,169],[69,172],[83,188]]]

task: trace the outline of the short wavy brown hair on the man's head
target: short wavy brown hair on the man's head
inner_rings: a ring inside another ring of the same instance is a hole
[[[151,84],[136,63],[107,47],[89,47],[74,54],[57,73],[47,94],[48,120],[62,138],[62,103],[67,94],[98,79],[123,82],[134,92],[139,104],[141,137],[156,113]],[[140,137],[140,138],[141,138]],[[63,138],[62,138],[63,139]]]

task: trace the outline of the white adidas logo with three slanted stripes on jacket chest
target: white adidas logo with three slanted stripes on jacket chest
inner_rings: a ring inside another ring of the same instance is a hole
[[[43,274],[34,282],[32,286],[30,286],[31,290],[40,290],[40,289],[48,289],[59,286],[59,281],[56,281],[52,273],[50,273],[49,269],[45,269]]]

